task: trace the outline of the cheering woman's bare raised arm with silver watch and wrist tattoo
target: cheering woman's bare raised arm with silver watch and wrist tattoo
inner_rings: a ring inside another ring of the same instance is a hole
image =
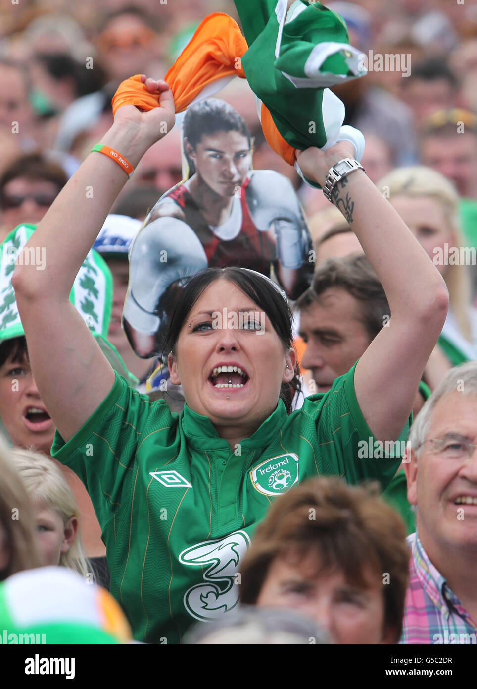
[[[298,154],[305,176],[324,185],[333,165],[353,158],[353,146]],[[361,243],[386,292],[390,320],[355,369],[359,407],[377,440],[396,440],[412,409],[419,380],[444,325],[445,282],[388,200],[362,170],[335,187],[333,203]]]

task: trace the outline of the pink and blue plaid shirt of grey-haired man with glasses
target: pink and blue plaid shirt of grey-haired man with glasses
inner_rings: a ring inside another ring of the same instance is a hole
[[[408,536],[410,581],[400,644],[476,644],[477,625],[447,586],[417,533]]]

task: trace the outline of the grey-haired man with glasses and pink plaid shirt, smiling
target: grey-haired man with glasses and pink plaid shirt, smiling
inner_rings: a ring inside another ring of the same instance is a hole
[[[417,506],[401,644],[476,644],[477,362],[451,369],[410,431]]]

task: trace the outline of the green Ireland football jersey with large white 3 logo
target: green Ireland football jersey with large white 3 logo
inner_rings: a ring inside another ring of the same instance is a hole
[[[111,593],[137,641],[176,644],[196,620],[239,599],[239,570],[254,528],[280,493],[309,477],[383,488],[401,462],[377,449],[357,404],[355,367],[287,415],[282,400],[231,451],[212,422],[177,415],[116,375],[100,407],[52,455],[87,487],[102,527]],[[395,449],[406,445],[406,424]]]

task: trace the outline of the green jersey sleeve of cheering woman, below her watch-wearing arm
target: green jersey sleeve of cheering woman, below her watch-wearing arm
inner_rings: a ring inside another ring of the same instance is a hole
[[[348,483],[378,480],[384,490],[401,464],[411,417],[397,440],[378,441],[359,409],[354,386],[355,367],[356,364],[337,378],[324,395],[307,398],[304,407],[317,398],[320,411],[315,415],[315,431],[325,466],[331,464],[333,471]],[[386,404],[386,391],[383,391],[383,404]]]

